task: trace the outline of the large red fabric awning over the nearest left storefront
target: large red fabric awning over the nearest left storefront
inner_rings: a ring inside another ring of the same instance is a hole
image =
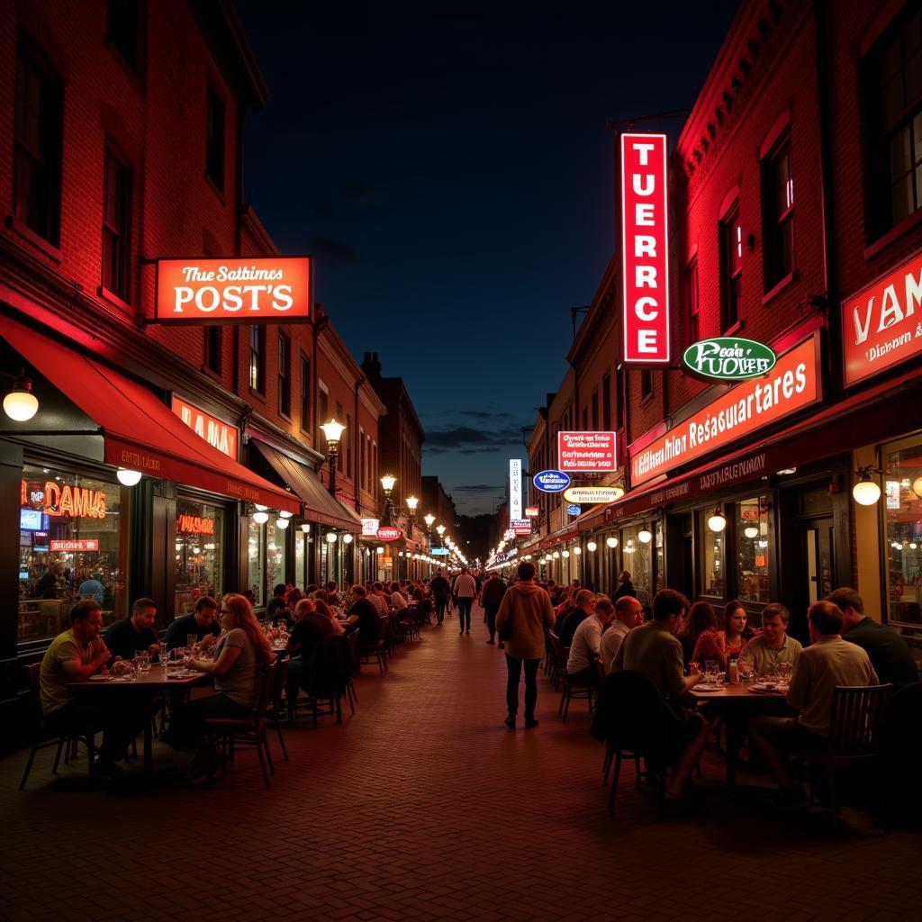
[[[212,448],[142,384],[9,317],[0,335],[99,424],[106,464],[301,513],[296,496]]]

